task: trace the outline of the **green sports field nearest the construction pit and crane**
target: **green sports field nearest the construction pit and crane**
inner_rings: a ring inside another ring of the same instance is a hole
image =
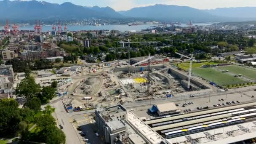
[[[192,73],[221,86],[248,83],[238,77],[219,72],[213,68],[193,69]]]

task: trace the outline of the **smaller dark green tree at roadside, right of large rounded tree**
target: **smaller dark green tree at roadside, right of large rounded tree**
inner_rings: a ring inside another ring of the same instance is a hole
[[[53,99],[56,96],[56,88],[52,88],[51,86],[43,87],[41,93],[39,94],[40,100],[45,103],[49,100]]]

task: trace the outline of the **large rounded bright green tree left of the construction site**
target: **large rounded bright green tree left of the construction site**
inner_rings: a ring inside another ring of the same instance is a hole
[[[34,77],[28,76],[21,80],[17,85],[16,95],[18,97],[25,97],[26,99],[32,99],[40,92],[40,85],[35,83]]]

